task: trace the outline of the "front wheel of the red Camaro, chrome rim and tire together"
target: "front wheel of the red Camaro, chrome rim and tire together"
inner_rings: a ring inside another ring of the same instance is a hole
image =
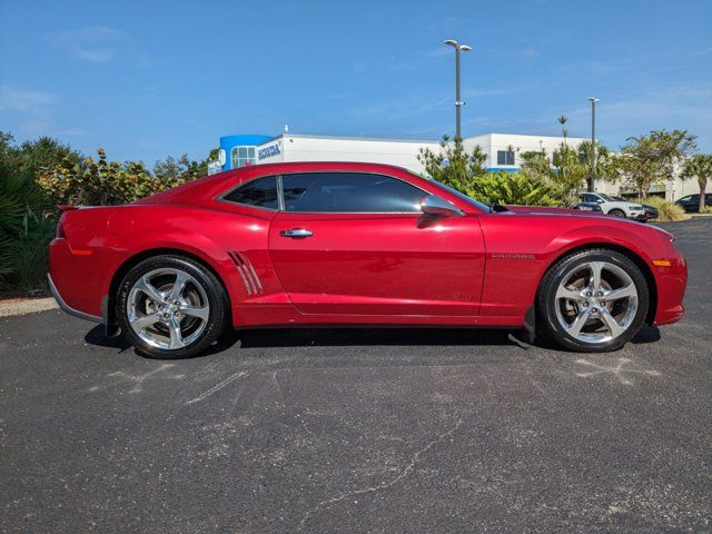
[[[607,249],[574,253],[544,276],[537,310],[544,334],[578,352],[625,345],[647,314],[647,284],[626,256]]]

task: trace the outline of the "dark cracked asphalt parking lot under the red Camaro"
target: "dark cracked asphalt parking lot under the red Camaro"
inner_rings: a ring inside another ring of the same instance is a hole
[[[686,316],[607,355],[260,330],[160,362],[0,319],[0,532],[712,532],[712,218],[665,228]]]

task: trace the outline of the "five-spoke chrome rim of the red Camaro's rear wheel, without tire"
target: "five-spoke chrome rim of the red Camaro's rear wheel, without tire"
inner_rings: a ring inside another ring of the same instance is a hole
[[[184,348],[208,325],[210,305],[202,286],[174,268],[155,269],[131,286],[126,301],[131,329],[149,345]]]

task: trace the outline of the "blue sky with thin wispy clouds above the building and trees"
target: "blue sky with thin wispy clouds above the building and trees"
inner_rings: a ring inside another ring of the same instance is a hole
[[[0,0],[0,129],[110,159],[220,135],[587,136],[686,128],[712,151],[712,2]]]

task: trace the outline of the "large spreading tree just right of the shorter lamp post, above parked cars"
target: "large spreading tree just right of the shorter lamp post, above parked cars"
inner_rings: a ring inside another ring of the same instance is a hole
[[[653,130],[647,136],[630,137],[621,154],[613,158],[616,179],[633,187],[641,200],[650,188],[672,179],[675,166],[696,148],[696,136],[686,130]]]

